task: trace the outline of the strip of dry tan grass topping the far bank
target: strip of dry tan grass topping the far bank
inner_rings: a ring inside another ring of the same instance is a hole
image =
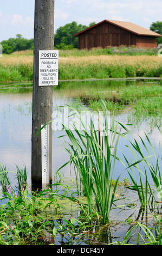
[[[162,64],[162,58],[158,56],[119,56],[119,55],[99,55],[99,56],[67,56],[60,57],[59,63],[70,65],[82,65],[82,64],[98,64],[103,63],[107,65],[150,65],[157,66]],[[20,51],[10,55],[3,55],[0,58],[0,65],[20,65],[31,64],[33,65],[33,52],[32,51]]]

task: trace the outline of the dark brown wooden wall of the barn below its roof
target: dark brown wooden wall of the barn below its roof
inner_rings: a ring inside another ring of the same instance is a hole
[[[138,47],[156,47],[156,38],[151,36],[138,36],[119,28],[111,23],[103,22],[79,35],[79,48],[136,45]]]

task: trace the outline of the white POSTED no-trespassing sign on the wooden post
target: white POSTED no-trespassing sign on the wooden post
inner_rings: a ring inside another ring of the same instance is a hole
[[[39,86],[58,86],[59,51],[39,51]]]

